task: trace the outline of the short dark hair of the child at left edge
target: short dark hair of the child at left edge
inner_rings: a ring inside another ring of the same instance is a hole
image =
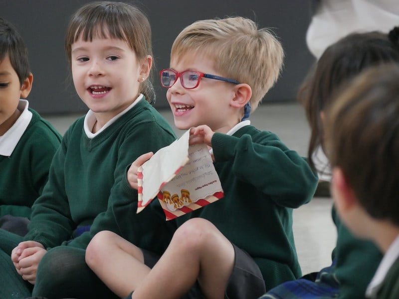
[[[6,55],[22,85],[30,74],[28,51],[16,28],[10,22],[0,18],[0,61]]]

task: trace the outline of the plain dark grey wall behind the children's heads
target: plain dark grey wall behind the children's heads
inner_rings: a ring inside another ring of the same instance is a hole
[[[63,40],[69,16],[87,0],[0,0],[0,15],[11,21],[27,44],[34,76],[30,106],[42,114],[84,112],[77,97]],[[159,87],[160,69],[169,66],[174,38],[193,21],[224,16],[246,16],[261,27],[270,27],[285,50],[281,78],[265,101],[295,100],[296,91],[313,57],[305,44],[309,24],[308,1],[300,0],[141,0],[134,1],[148,15],[153,30],[156,72],[156,107],[166,107],[165,90]]]

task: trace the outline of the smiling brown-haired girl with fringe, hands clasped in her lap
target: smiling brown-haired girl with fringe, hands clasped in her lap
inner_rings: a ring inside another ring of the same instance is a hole
[[[26,236],[0,231],[0,257],[8,257],[1,261],[0,298],[26,298],[31,292],[116,298],[85,263],[91,238],[107,229],[162,254],[175,230],[152,208],[136,214],[137,192],[127,182],[132,161],[176,139],[150,104],[147,17],[128,3],[87,3],[70,19],[65,50],[74,87],[89,111],[65,133]],[[124,218],[130,219],[129,230],[118,222]]]

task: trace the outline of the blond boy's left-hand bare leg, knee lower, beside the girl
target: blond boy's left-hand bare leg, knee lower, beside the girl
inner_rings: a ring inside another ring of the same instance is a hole
[[[97,233],[86,249],[86,263],[119,297],[126,297],[150,272],[142,251],[110,231]]]

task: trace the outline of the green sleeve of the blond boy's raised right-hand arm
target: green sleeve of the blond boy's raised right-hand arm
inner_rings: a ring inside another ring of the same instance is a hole
[[[253,185],[276,204],[295,208],[312,198],[317,175],[276,135],[260,131],[240,137],[215,133],[211,143],[216,162],[231,163],[239,180]]]

